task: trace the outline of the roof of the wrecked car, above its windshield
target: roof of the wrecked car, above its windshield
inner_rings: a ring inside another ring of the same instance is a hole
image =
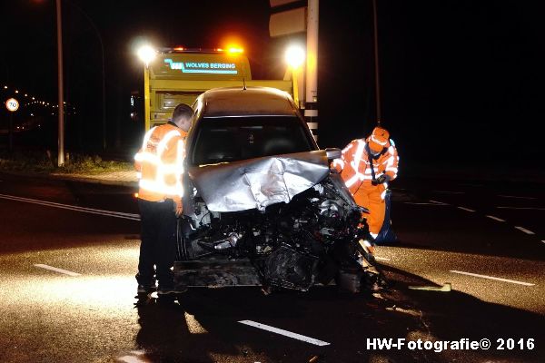
[[[288,93],[270,87],[213,88],[202,95],[203,117],[293,116],[295,104]]]

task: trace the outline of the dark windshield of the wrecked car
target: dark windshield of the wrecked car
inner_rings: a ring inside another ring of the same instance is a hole
[[[193,165],[313,150],[295,116],[205,117],[198,127]]]

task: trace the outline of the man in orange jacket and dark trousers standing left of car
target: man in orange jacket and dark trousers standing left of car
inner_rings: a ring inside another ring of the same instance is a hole
[[[136,274],[138,293],[153,291],[155,279],[159,282],[158,294],[174,292],[176,218],[183,212],[184,139],[192,120],[192,108],[179,104],[173,111],[172,121],[145,133],[142,148],[134,156],[142,221]]]

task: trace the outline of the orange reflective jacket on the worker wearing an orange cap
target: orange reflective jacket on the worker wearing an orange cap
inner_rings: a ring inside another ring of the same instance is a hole
[[[364,139],[353,140],[342,150],[342,158],[333,161],[333,167],[341,172],[342,180],[352,194],[361,187],[374,187],[371,183],[372,169],[365,145]],[[375,178],[385,173],[392,181],[397,177],[399,156],[391,140],[385,147],[385,152],[381,153],[377,159],[372,159],[372,168]],[[387,187],[384,183],[384,188]]]

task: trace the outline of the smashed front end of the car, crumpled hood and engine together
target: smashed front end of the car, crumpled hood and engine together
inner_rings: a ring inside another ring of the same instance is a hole
[[[326,151],[189,169],[176,285],[306,291],[335,280],[358,292],[381,284],[361,207]]]

